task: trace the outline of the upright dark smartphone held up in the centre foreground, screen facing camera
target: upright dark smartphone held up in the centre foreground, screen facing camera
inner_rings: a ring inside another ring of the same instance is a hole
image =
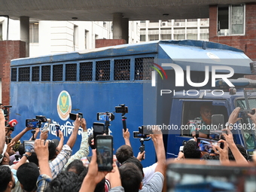
[[[97,163],[99,171],[113,169],[113,137],[96,136]]]

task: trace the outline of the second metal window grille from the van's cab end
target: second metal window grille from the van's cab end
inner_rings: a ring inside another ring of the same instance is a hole
[[[130,80],[130,59],[114,60],[114,80]]]

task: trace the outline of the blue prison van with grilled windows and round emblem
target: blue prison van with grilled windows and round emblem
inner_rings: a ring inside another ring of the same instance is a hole
[[[55,125],[64,133],[65,143],[72,133],[69,113],[81,112],[89,134],[97,113],[113,112],[125,104],[126,126],[134,154],[139,153],[140,139],[133,131],[142,125],[163,128],[166,157],[175,157],[189,130],[181,130],[187,120],[199,115],[202,102],[212,102],[216,114],[225,120],[233,108],[255,108],[255,95],[245,105],[243,90],[230,94],[215,86],[222,76],[228,79],[250,75],[251,59],[242,50],[209,41],[150,41],[122,44],[72,53],[59,53],[11,61],[10,119],[17,119],[14,134],[26,126],[26,119],[44,115],[51,123],[49,139],[56,139]],[[222,76],[221,76],[222,75]],[[220,91],[221,90],[221,91]],[[109,133],[114,136],[114,152],[124,145],[122,115],[114,113]],[[102,122],[102,121],[101,121]],[[104,123],[104,122],[102,122]],[[245,118],[244,123],[251,123]],[[252,123],[251,123],[252,124]],[[80,148],[81,131],[73,148]],[[255,131],[237,130],[236,142],[252,150]],[[23,140],[29,139],[27,133]],[[144,166],[156,161],[154,145],[145,141]]]

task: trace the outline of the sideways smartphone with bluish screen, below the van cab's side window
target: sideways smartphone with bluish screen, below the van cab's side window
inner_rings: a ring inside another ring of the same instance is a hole
[[[223,143],[219,143],[216,140],[205,139],[205,138],[197,138],[197,150],[205,151],[209,154],[214,154],[215,151],[212,148],[212,145],[218,145],[220,148],[223,148]]]

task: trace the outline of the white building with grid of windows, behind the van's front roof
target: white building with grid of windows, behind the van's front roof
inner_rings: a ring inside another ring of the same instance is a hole
[[[203,40],[209,41],[209,19],[141,21],[140,41]]]

